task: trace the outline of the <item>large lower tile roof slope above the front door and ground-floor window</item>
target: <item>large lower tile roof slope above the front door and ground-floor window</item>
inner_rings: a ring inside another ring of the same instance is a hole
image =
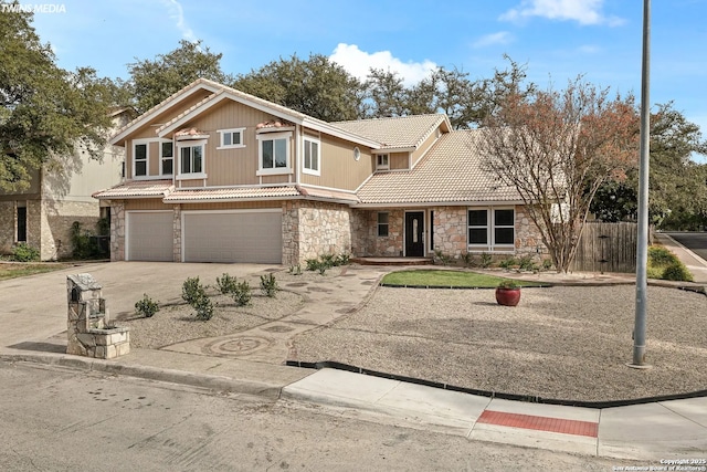
[[[374,174],[357,192],[363,204],[518,201],[515,188],[494,183],[479,165],[478,130],[443,135],[410,171]]]

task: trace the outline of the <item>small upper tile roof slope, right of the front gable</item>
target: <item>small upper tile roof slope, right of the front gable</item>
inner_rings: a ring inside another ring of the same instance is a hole
[[[382,149],[390,149],[420,146],[446,119],[446,115],[442,114],[412,115],[335,122],[331,125],[382,143]]]

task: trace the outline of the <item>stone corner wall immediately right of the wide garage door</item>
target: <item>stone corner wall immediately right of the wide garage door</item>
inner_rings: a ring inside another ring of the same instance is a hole
[[[351,253],[349,207],[306,200],[283,203],[283,264],[341,253]]]

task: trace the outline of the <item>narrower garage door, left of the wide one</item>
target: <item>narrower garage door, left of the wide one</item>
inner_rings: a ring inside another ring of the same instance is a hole
[[[171,211],[128,211],[126,234],[126,260],[173,260]]]

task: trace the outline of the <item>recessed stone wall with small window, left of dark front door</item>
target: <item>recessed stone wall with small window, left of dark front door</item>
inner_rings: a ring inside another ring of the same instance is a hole
[[[402,209],[383,210],[388,212],[388,235],[378,235],[378,210],[354,210],[352,253],[356,256],[400,256],[404,248],[403,224],[405,212]]]

